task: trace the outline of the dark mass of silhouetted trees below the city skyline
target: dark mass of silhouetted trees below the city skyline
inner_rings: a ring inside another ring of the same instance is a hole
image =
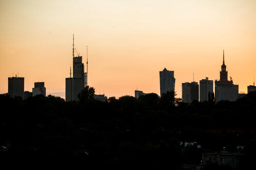
[[[23,101],[1,94],[0,144],[8,147],[1,155],[69,158],[97,168],[182,169],[182,164],[199,164],[204,150],[245,145],[245,166],[255,159],[256,92],[236,102],[215,103],[209,95],[209,102],[190,104],[174,92],[107,102],[94,100],[93,94],[89,86],[79,93],[80,102],[52,95]],[[223,133],[209,131],[215,129]],[[197,141],[202,149],[183,151],[182,141]]]

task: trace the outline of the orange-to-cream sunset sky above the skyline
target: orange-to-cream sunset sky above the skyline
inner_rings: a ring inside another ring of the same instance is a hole
[[[89,85],[106,96],[160,94],[159,71],[181,83],[219,79],[222,50],[228,77],[247,92],[256,76],[256,1],[0,1],[0,93],[8,77],[25,77],[25,90],[45,82],[65,98],[75,47]]]

